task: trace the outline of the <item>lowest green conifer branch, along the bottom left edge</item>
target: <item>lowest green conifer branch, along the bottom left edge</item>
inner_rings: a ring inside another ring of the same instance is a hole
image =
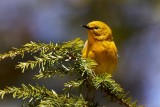
[[[84,107],[87,102],[82,96],[72,96],[68,97],[66,95],[58,95],[53,90],[48,90],[44,86],[39,85],[24,85],[21,88],[16,87],[6,87],[4,90],[0,90],[1,99],[3,99],[5,94],[13,94],[13,98],[22,98],[23,100],[28,99],[29,103],[27,107],[62,107],[62,106],[74,106],[74,107]]]

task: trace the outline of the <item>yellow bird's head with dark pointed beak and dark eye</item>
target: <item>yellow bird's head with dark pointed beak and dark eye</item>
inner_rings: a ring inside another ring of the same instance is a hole
[[[112,40],[112,31],[109,26],[101,21],[92,21],[83,27],[88,29],[88,35],[97,40]]]

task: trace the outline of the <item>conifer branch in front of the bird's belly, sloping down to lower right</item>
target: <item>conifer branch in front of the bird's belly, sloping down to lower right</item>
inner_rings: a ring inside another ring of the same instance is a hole
[[[131,97],[127,97],[127,93],[121,88],[121,86],[116,83],[110,74],[95,75],[93,72],[93,67],[96,65],[95,61],[91,59],[80,60],[78,69],[81,71],[83,79],[71,81],[65,84],[68,88],[77,88],[77,86],[82,86],[84,84],[93,85],[97,90],[100,89],[106,96],[110,96],[111,99],[119,102],[119,104],[125,105],[126,107],[143,107],[138,106],[137,101],[132,102]],[[76,69],[78,71],[78,69]],[[83,82],[81,82],[83,80]],[[83,84],[82,84],[83,83]],[[68,89],[69,90],[69,89]]]

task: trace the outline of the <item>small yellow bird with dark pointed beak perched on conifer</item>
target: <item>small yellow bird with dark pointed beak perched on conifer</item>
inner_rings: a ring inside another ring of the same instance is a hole
[[[97,62],[94,68],[96,74],[111,74],[117,66],[118,55],[110,27],[101,21],[92,21],[83,27],[88,30],[88,40],[82,50],[82,57]]]

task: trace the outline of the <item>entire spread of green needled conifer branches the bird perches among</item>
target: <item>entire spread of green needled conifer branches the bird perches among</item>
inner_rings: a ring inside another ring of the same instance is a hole
[[[22,58],[26,53],[35,54],[34,60],[20,62],[16,68],[20,68],[22,72],[27,69],[39,68],[39,73],[35,78],[50,78],[59,76],[66,76],[70,74],[79,75],[75,80],[64,83],[64,95],[58,95],[53,90],[48,90],[45,86],[32,86],[22,84],[21,88],[6,87],[0,90],[1,99],[5,94],[13,94],[13,98],[29,99],[27,105],[60,107],[60,106],[93,106],[94,102],[86,101],[85,96],[81,96],[81,89],[87,89],[89,86],[96,90],[101,90],[107,96],[110,96],[113,101],[117,101],[126,107],[137,107],[137,102],[132,102],[132,99],[127,97],[126,92],[121,86],[116,83],[110,74],[96,75],[93,68],[97,65],[94,60],[83,59],[80,51],[83,47],[83,41],[79,38],[60,43],[35,43],[30,42],[25,44],[22,48],[14,48],[5,54],[0,54],[0,60],[5,58],[14,58],[21,55]],[[75,96],[70,93],[73,89],[79,89],[80,95]],[[67,95],[65,93],[68,93]],[[90,104],[92,103],[92,104]],[[96,106],[96,105],[94,105]],[[139,106],[141,107],[141,106]]]

